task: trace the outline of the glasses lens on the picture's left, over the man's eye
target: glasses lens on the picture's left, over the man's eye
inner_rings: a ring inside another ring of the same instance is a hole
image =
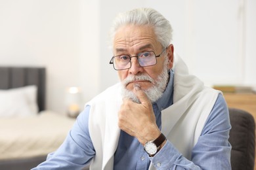
[[[114,57],[114,68],[117,70],[129,69],[131,67],[131,59],[128,55]]]

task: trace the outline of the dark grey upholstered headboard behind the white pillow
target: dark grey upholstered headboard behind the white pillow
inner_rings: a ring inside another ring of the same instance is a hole
[[[45,68],[44,67],[0,67],[0,89],[37,86],[39,111],[45,110]]]

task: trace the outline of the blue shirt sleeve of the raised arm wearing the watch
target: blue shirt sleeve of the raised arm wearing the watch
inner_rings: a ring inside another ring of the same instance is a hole
[[[219,94],[192,150],[191,160],[184,158],[170,141],[150,160],[156,169],[231,169],[230,129],[228,107]]]

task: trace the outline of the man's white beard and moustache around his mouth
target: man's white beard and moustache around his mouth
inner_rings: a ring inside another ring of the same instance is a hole
[[[136,76],[130,75],[130,76],[127,76],[127,78],[125,78],[122,81],[123,86],[121,89],[121,92],[122,92],[121,95],[124,98],[131,99],[132,101],[134,101],[136,103],[140,103],[140,101],[139,101],[138,97],[135,95],[135,93],[133,93],[131,90],[127,90],[127,88],[125,88],[127,86],[127,84],[129,84],[129,82],[132,82],[135,80],[148,80],[149,82],[151,82],[153,84],[153,86],[151,88],[148,88],[147,90],[143,90],[143,91],[146,93],[146,95],[148,95],[148,98],[150,99],[150,101],[152,103],[157,101],[158,99],[160,99],[161,95],[163,95],[163,92],[165,91],[167,82],[169,80],[167,59],[165,59],[163,70],[156,80],[154,80],[153,78],[151,78],[148,75],[136,75]]]

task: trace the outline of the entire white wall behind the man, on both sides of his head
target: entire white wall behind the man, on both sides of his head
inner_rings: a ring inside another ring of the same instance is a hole
[[[0,65],[47,67],[47,109],[64,112],[68,86],[84,103],[118,81],[108,31],[136,7],[171,22],[175,51],[205,84],[256,86],[254,0],[0,0]]]

